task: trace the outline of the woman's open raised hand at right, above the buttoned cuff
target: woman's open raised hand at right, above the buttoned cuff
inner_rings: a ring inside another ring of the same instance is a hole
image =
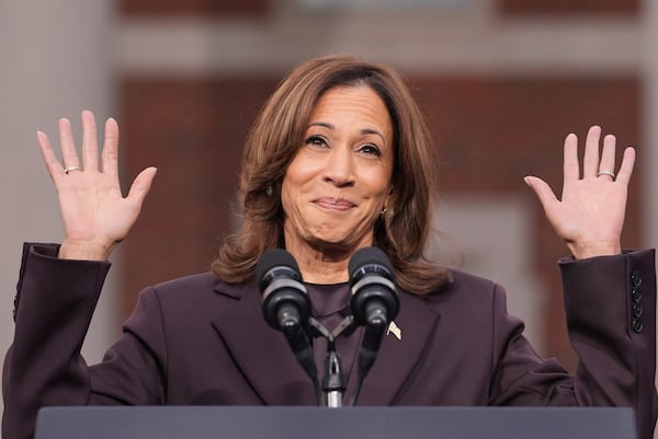
[[[576,258],[612,255],[621,252],[621,234],[626,213],[627,189],[635,150],[624,150],[615,174],[616,139],[608,135],[600,148],[601,128],[589,129],[585,142],[582,174],[578,160],[578,138],[565,139],[564,186],[561,199],[535,176],[525,183],[535,192],[546,218]]]

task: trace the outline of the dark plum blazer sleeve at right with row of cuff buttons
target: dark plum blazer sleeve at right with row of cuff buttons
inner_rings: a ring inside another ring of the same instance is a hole
[[[656,265],[653,250],[560,262],[580,405],[631,406],[638,436],[657,417]]]

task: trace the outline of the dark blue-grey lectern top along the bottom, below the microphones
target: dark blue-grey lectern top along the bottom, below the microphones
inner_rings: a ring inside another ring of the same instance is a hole
[[[631,408],[46,407],[35,439],[637,439]]]

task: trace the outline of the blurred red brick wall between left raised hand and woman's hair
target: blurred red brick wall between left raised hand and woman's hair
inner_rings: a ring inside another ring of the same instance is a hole
[[[271,80],[126,80],[122,92],[125,186],[141,169],[158,175],[123,245],[125,284],[207,270],[235,223],[241,147]],[[132,297],[127,310],[134,304]]]

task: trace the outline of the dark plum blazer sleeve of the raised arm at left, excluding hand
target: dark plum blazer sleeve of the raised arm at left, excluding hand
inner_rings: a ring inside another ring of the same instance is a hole
[[[60,261],[57,251],[29,244],[23,250],[14,339],[2,373],[5,438],[31,438],[44,405],[89,400],[80,348],[110,264]]]

